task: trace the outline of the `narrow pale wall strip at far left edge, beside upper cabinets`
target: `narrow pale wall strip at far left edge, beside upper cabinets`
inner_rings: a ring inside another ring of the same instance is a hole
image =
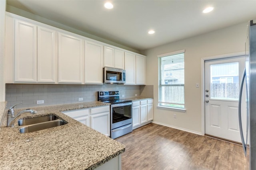
[[[5,8],[6,0],[0,0],[0,101],[5,101]]]

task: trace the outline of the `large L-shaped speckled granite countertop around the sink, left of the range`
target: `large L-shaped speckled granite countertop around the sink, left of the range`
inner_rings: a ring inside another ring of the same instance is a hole
[[[0,102],[0,120],[4,105]],[[17,122],[14,127],[5,127],[4,118],[0,131],[1,170],[92,170],[118,156],[124,152],[124,145],[60,112],[104,105],[109,104],[86,102],[37,107],[38,113],[24,113],[20,118],[54,113],[68,123],[31,133],[20,133]],[[15,111],[17,113],[19,110]]]

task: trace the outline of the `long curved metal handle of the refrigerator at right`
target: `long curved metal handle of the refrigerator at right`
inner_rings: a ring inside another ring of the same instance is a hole
[[[243,133],[243,128],[242,128],[242,113],[241,113],[242,91],[243,91],[243,86],[244,86],[245,75],[246,75],[246,70],[244,68],[244,72],[243,72],[242,79],[241,79],[241,84],[240,84],[240,92],[239,92],[238,120],[239,120],[239,127],[240,127],[240,135],[241,135],[242,145],[243,145],[243,149],[244,149],[244,154],[246,156],[246,143],[244,142],[244,133]]]

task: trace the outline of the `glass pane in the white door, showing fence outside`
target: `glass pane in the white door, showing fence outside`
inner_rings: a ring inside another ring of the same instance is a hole
[[[212,64],[211,99],[238,100],[239,98],[239,63]]]

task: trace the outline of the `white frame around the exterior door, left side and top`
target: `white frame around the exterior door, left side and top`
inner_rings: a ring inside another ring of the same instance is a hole
[[[236,57],[236,56],[240,56],[240,55],[245,55],[245,51],[244,52],[239,52],[239,53],[230,53],[230,54],[225,54],[225,55],[205,57],[205,58],[201,59],[201,87],[202,87],[202,90],[201,90],[201,117],[202,117],[201,125],[202,125],[202,127],[201,127],[201,129],[202,129],[202,135],[203,136],[205,134],[205,106],[204,106],[204,101],[205,101],[205,98],[204,98],[204,90],[205,90],[204,76],[205,76],[205,73],[204,73],[204,62],[207,61],[207,60],[223,59],[223,58],[228,58],[228,57]]]

